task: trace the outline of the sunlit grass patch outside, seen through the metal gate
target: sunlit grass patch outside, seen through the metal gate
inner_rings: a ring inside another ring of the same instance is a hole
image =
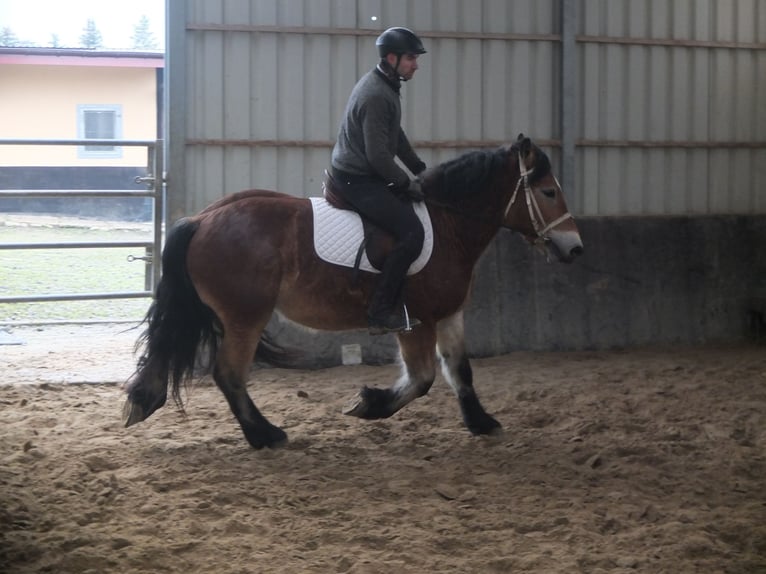
[[[150,241],[147,224],[3,216],[0,243]],[[143,291],[146,266],[128,262],[141,248],[2,249],[0,296]],[[137,299],[0,303],[0,322],[140,321],[151,303]]]

